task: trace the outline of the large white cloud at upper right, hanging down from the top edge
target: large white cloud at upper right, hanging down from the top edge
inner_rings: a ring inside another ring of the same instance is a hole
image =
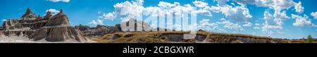
[[[271,15],[268,11],[264,13],[264,19],[266,22],[263,24],[263,31],[272,33],[273,31],[268,31],[271,29],[280,30],[282,29],[283,20],[290,19],[286,15],[285,11],[281,11],[284,9],[288,9],[294,6],[297,13],[303,13],[304,7],[302,7],[302,3],[295,3],[292,0],[235,0],[238,4],[245,6],[246,4],[263,6],[271,8],[274,11],[274,14]]]

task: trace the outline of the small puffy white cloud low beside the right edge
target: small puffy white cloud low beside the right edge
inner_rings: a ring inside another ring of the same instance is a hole
[[[294,26],[312,26],[312,27],[316,27],[315,24],[311,23],[311,20],[309,19],[309,17],[307,15],[304,15],[304,17],[301,17],[299,15],[294,15],[292,14],[292,18],[296,19],[296,21],[293,23]]]

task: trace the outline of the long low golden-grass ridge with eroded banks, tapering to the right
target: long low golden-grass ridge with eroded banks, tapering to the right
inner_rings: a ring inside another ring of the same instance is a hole
[[[195,37],[185,39],[184,34],[189,32],[132,32],[132,33],[110,33],[100,38],[97,42],[130,42],[130,43],[288,43],[268,37],[254,35],[241,35],[230,33],[204,33],[198,32]]]

